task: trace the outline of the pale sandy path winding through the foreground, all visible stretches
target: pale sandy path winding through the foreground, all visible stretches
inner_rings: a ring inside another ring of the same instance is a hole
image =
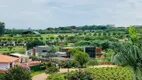
[[[102,67],[116,67],[115,65],[98,65],[98,66],[90,66],[88,68],[102,68]],[[78,70],[78,69],[69,69],[69,71],[74,71],[74,70]],[[60,69],[60,73],[64,73],[64,72],[68,72],[67,68],[62,68]],[[42,73],[39,75],[36,75],[32,78],[32,80],[46,80],[48,77],[47,74]]]

